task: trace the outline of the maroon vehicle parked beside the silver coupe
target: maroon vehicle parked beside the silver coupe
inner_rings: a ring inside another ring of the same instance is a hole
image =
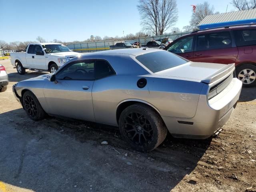
[[[256,25],[199,30],[164,48],[194,62],[235,63],[244,87],[256,86]]]

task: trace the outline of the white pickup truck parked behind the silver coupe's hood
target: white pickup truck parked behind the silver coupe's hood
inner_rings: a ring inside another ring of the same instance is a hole
[[[11,53],[11,63],[21,75],[26,69],[48,70],[53,73],[70,59],[81,55],[60,43],[31,43],[24,53]]]

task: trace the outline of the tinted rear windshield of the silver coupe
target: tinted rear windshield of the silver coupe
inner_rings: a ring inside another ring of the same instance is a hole
[[[156,51],[139,55],[136,59],[153,73],[170,69],[188,62],[168,51]]]

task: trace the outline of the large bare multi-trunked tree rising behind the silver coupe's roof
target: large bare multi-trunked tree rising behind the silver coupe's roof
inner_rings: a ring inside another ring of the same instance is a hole
[[[144,30],[162,35],[178,20],[176,0],[139,0],[141,25]]]

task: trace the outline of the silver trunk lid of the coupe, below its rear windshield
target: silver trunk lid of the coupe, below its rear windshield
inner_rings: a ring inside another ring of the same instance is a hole
[[[188,62],[186,64],[176,66],[174,68],[166,69],[155,74],[161,76],[171,76],[178,78],[188,78],[197,81],[207,82],[210,76],[218,72],[222,72],[228,68],[232,68],[233,64],[216,64],[216,63],[202,63],[202,62]],[[210,83],[210,82],[207,82]]]

